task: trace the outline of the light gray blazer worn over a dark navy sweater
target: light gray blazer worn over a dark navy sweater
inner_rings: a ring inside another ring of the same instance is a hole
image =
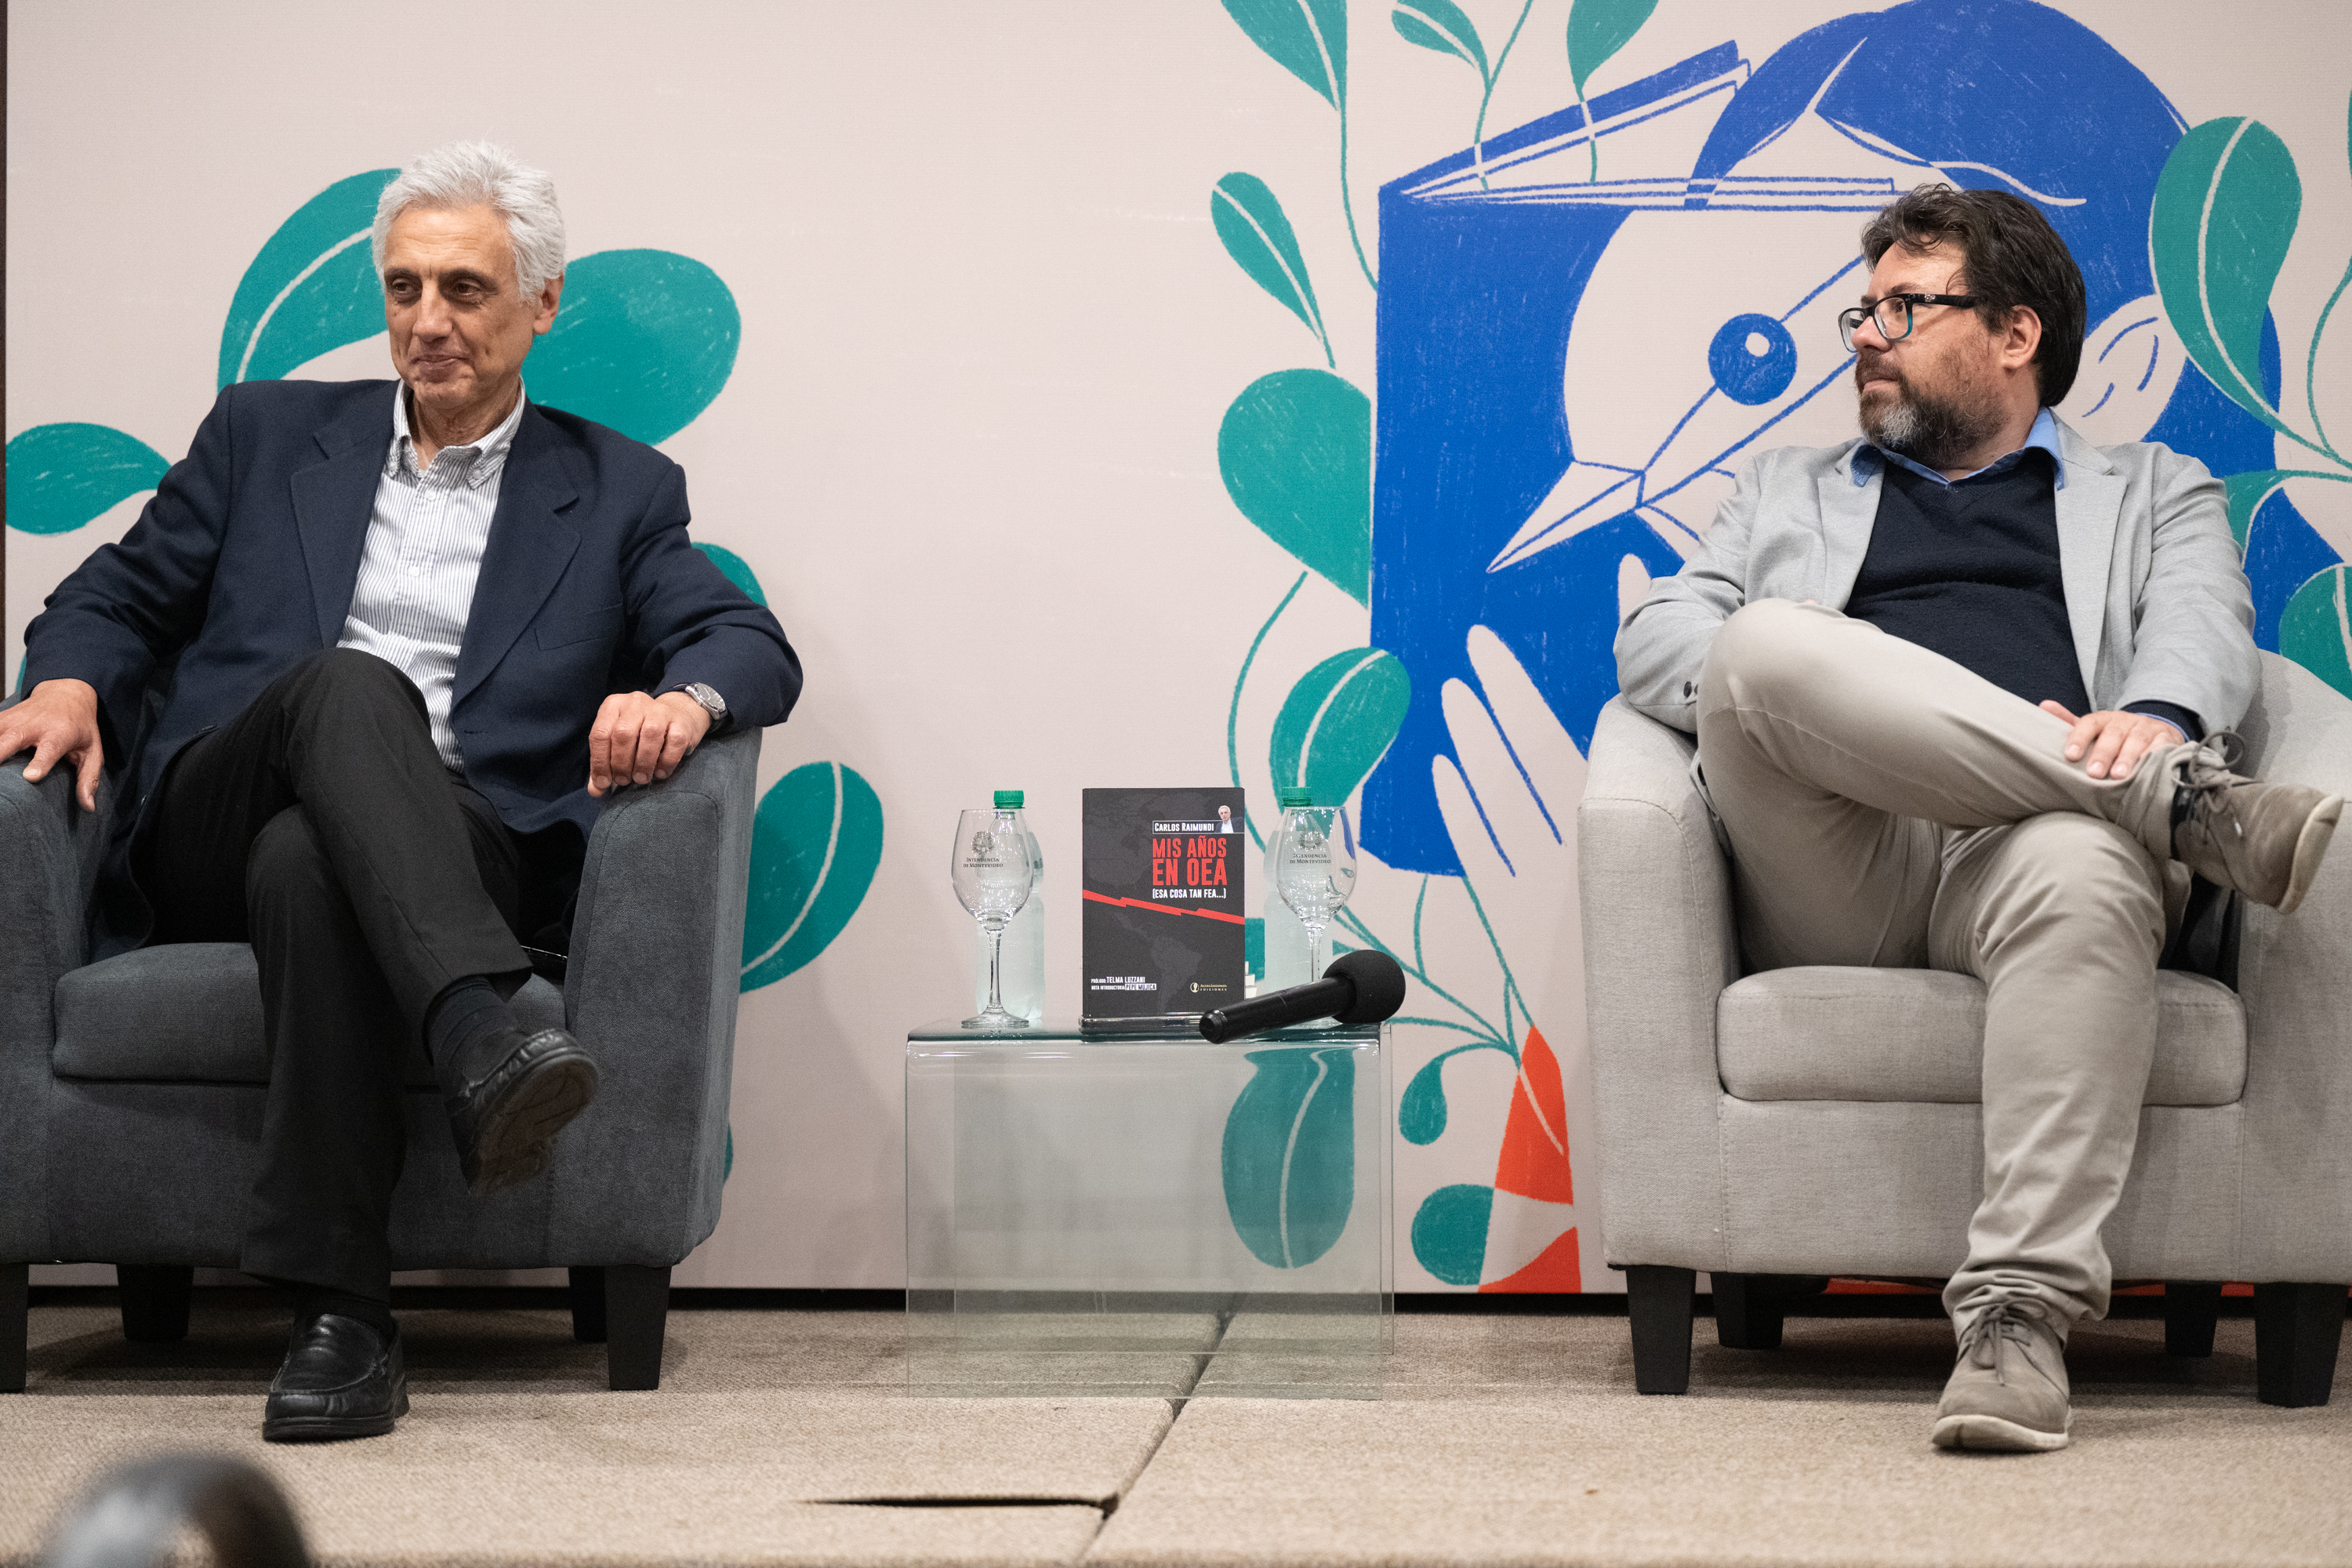
[[[2091,703],[2178,703],[2206,731],[2230,729],[2263,670],[2220,480],[2154,442],[2093,447],[2063,421],[2058,440],[2058,574]],[[1696,733],[1698,670],[1731,611],[1750,599],[1846,607],[1879,515],[1879,477],[1853,482],[1860,444],[1780,447],[1740,473],[1698,555],[1618,623],[1628,703]]]

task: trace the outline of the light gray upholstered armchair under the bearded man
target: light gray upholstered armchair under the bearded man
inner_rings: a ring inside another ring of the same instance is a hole
[[[2303,668],[2265,654],[2239,729],[2249,771],[2352,795],[2352,703]],[[1983,985],[1745,973],[1691,750],[1609,703],[1576,818],[1606,1258],[1644,1394],[1689,1387],[1698,1269],[1722,1342],[1764,1349],[1825,1276],[1950,1276],[1983,1185]],[[2234,992],[2159,973],[2103,1234],[2117,1279],[2166,1281],[2173,1354],[2211,1354],[2220,1281],[2256,1281],[2260,1399],[2326,1403],[2352,1281],[2352,849],[2296,914],[2244,910],[2225,959]]]

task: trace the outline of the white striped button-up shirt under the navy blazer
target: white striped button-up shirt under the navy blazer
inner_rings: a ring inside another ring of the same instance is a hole
[[[463,766],[449,698],[456,684],[456,651],[466,642],[473,581],[482,574],[482,545],[499,510],[499,475],[522,423],[515,411],[470,447],[442,447],[433,465],[416,473],[409,440],[407,388],[393,395],[393,444],[376,480],[376,510],[367,520],[367,552],[350,592],[339,649],[360,649],[395,665],[426,693],[433,745],[442,762]]]

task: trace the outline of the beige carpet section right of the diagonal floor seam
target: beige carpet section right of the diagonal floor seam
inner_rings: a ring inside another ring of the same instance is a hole
[[[2249,1321],[2077,1331],[2053,1455],[1929,1446],[1940,1321],[1710,1338],[1644,1399],[1623,1319],[1399,1319],[1381,1403],[1190,1401],[1087,1561],[2352,1563],[2352,1380],[2256,1403]]]

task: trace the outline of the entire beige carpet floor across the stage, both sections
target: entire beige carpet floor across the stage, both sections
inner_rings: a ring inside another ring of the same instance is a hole
[[[266,1448],[280,1326],[202,1309],[134,1347],[35,1309],[0,1396],[0,1563],[89,1476],[165,1448],[256,1460],[320,1561],[386,1563],[2352,1563],[2352,1352],[2336,1403],[2253,1401],[2253,1326],[2166,1361],[2077,1333],[2077,1441],[1929,1448],[1936,1321],[1700,1324],[1691,1394],[1632,1394],[1625,1321],[1402,1316],[1383,1396],[910,1396],[896,1314],[677,1312],[663,1387],[612,1394],[553,1312],[414,1312],[388,1439]],[[1218,1382],[1214,1356],[1197,1392]]]

